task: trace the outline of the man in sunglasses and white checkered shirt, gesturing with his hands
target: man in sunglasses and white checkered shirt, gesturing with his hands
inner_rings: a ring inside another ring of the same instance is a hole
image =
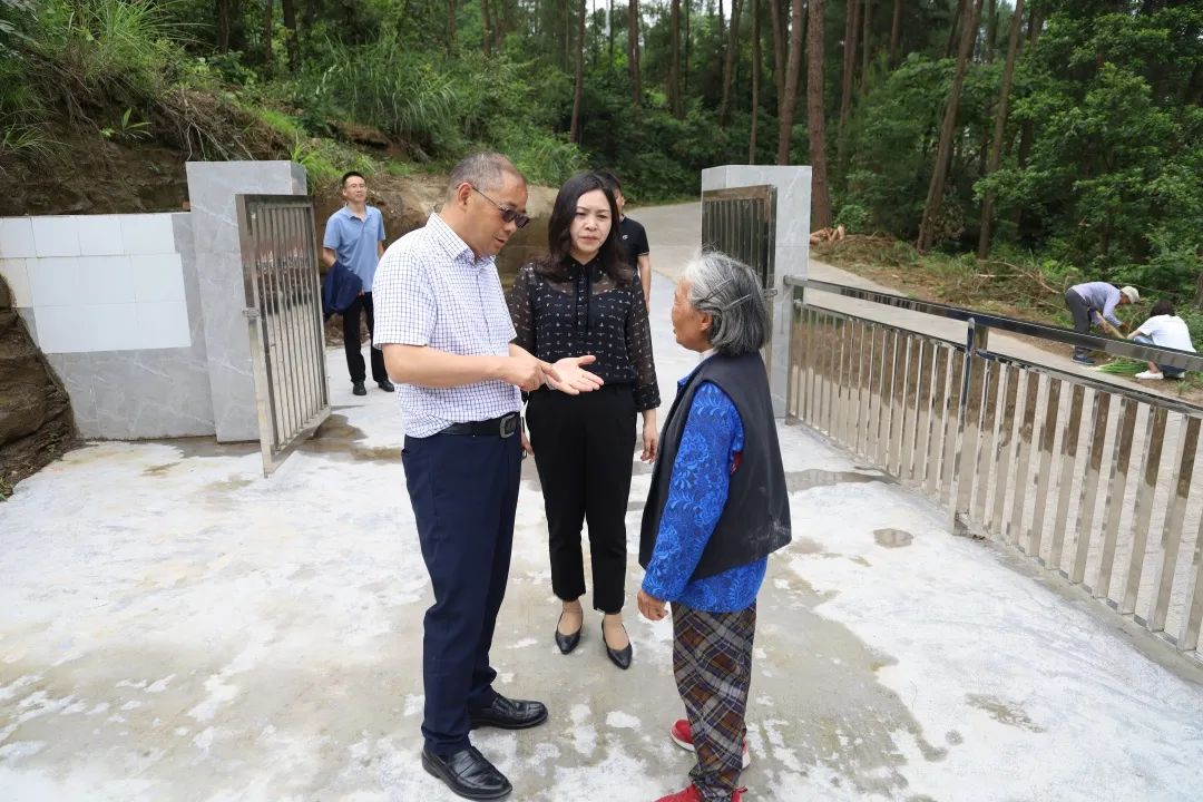
[[[497,611],[505,595],[522,464],[520,390],[567,393],[602,380],[592,356],[555,366],[514,345],[494,256],[526,216],[526,179],[499,154],[468,156],[425,228],[385,251],[375,275],[375,347],[405,424],[402,463],[434,605],[426,611],[422,766],[460,796],[512,788],[468,739],[470,729],[543,724],[540,702],[492,688]]]

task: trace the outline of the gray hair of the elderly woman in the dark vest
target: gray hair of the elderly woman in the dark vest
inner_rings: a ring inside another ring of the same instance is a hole
[[[769,340],[769,310],[760,279],[747,265],[719,251],[707,251],[686,265],[689,305],[709,313],[710,346],[740,356],[759,351]]]

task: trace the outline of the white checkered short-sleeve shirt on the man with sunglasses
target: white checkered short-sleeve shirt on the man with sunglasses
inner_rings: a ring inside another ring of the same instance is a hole
[[[472,249],[432,214],[385,251],[373,291],[375,347],[426,345],[462,356],[506,356],[515,337],[492,256]],[[397,403],[405,432],[426,438],[451,423],[487,421],[521,405],[504,381],[461,387],[399,385]]]

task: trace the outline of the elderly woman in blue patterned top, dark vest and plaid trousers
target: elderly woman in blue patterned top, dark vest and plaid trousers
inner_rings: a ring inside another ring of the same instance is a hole
[[[705,358],[677,382],[660,433],[639,610],[660,620],[672,602],[672,673],[688,719],[671,736],[697,765],[688,788],[658,802],[739,802],[755,596],[769,554],[790,537],[757,277],[722,254],[695,259],[676,286],[672,333]]]

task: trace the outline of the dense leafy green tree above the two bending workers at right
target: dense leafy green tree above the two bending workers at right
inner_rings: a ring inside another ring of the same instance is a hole
[[[1091,278],[1193,285],[1203,137],[1183,100],[1203,75],[1203,8],[1079,12],[1054,12],[1023,64],[1012,118],[1032,127],[1029,164],[979,194],[995,189],[1002,214],[1021,210],[1037,243]]]

